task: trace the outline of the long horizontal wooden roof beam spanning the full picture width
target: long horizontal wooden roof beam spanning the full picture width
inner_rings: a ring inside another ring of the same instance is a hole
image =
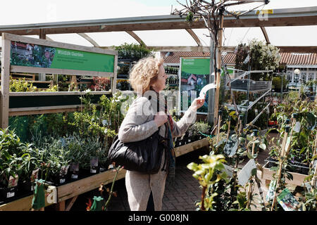
[[[243,13],[243,11],[242,11]],[[239,19],[225,15],[223,27],[284,27],[317,25],[317,7],[274,9],[267,18],[259,18],[254,11]],[[0,26],[0,33],[18,35],[89,33],[89,32],[128,32],[137,30],[175,30],[205,28],[204,21],[187,23],[185,17],[178,15],[155,15],[134,18],[115,18],[102,20],[79,20],[56,23],[36,23],[29,25]]]

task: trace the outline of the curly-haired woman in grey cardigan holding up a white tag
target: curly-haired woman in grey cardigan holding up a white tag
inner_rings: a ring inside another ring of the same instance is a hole
[[[162,169],[157,174],[127,171],[125,186],[132,211],[161,210],[166,177],[175,174],[175,153],[171,136],[185,134],[190,124],[196,119],[197,109],[204,104],[204,98],[195,98],[182,119],[175,122],[168,115],[166,101],[159,94],[166,87],[166,78],[163,59],[151,56],[139,60],[130,72],[130,84],[137,93],[142,91],[142,96],[138,96],[130,105],[120,125],[118,139],[123,142],[141,141],[158,129],[161,136],[170,138],[167,143],[170,149],[163,153]],[[167,169],[164,169],[166,168],[164,162],[168,162]]]

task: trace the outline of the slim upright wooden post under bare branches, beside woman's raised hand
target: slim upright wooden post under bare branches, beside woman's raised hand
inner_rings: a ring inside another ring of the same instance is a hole
[[[219,34],[218,34],[218,43],[215,43],[216,46],[218,44],[218,56],[217,56],[217,63],[216,63],[216,68],[217,70],[221,68],[221,51],[223,50],[223,19],[224,16],[221,15],[220,17],[220,27],[219,27]],[[214,106],[214,110],[213,112],[218,112],[218,108],[219,108],[219,92],[220,92],[220,71],[215,71],[215,79],[216,79],[216,93],[215,93],[215,106]],[[214,119],[214,124],[216,124],[217,121],[217,116],[216,114],[213,117]]]

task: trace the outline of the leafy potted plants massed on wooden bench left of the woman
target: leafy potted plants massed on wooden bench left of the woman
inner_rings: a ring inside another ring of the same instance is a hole
[[[32,193],[32,181],[61,186],[108,170],[107,150],[123,120],[120,93],[91,102],[82,111],[10,117],[1,130],[0,202]]]

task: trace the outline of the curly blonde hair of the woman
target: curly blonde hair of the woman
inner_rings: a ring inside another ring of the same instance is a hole
[[[156,58],[154,56],[142,58],[135,63],[130,72],[129,79],[132,89],[137,91],[142,86],[142,94],[145,91],[149,91],[151,85],[156,82],[161,65],[163,65],[163,58]]]

